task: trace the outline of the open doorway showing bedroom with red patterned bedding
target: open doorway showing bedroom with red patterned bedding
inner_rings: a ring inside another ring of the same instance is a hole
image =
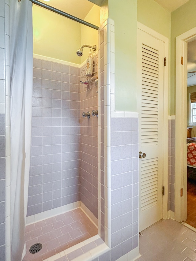
[[[196,40],[188,43],[187,52],[187,221],[196,228]]]

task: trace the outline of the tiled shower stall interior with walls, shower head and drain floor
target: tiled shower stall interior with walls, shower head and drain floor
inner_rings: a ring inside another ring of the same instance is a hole
[[[96,45],[84,44],[77,55],[86,47],[93,51],[90,76],[86,62],[33,56],[23,261],[47,259],[98,234],[98,84],[91,78],[98,78],[99,54]]]

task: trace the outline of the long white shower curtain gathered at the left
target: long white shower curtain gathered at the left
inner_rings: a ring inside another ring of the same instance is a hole
[[[32,77],[32,2],[10,0],[11,261],[21,261],[26,253]]]

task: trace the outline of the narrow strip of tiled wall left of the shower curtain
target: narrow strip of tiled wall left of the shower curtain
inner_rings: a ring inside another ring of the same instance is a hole
[[[4,261],[10,260],[10,44],[9,2],[5,0],[0,1],[0,35],[0,260]]]

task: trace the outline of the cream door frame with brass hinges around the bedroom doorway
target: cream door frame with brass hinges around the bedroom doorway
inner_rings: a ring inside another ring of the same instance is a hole
[[[196,27],[176,37],[175,220],[178,222],[187,220],[187,43],[195,39]],[[181,188],[183,188],[182,197]]]

